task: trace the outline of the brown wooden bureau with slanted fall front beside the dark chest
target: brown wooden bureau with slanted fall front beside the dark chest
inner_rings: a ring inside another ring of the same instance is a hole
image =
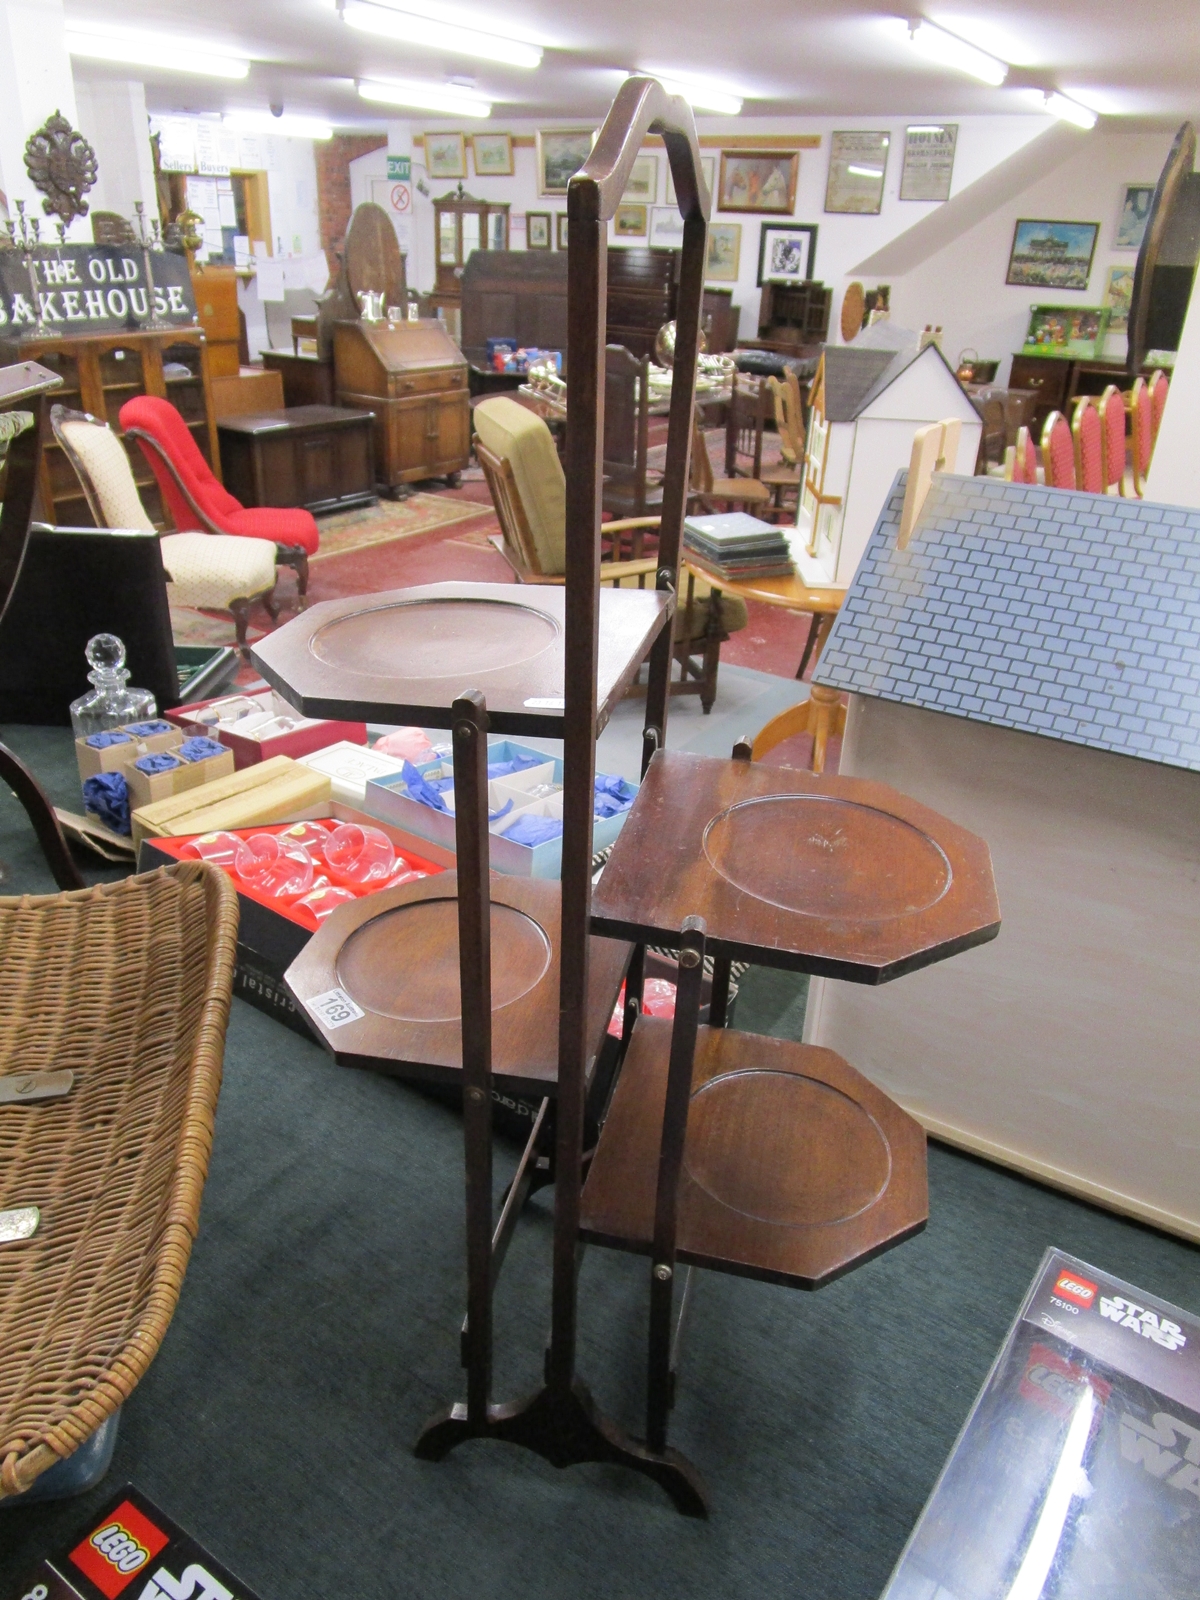
[[[374,467],[384,490],[458,474],[470,459],[467,362],[440,322],[339,322],[338,405],[374,411]]]

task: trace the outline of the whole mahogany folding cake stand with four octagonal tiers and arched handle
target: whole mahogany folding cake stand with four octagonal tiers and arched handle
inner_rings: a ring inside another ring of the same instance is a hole
[[[602,590],[606,232],[648,133],[664,139],[683,216],[658,573],[653,590]],[[568,190],[563,589],[434,584],[341,600],[254,648],[309,715],[453,728],[456,875],[341,907],[288,973],[339,1059],[464,1090],[467,1400],[426,1427],[418,1454],[491,1437],[560,1467],[622,1462],[691,1515],[706,1514],[704,1486],[666,1443],[677,1254],[811,1288],[926,1216],[920,1128],[830,1051],[723,1029],[730,962],[882,982],[998,926],[986,846],[914,802],[662,752],[707,211],[686,102],[627,80]],[[645,781],[594,917],[595,741],[643,659]],[[488,728],[563,741],[562,886],[490,878]],[[714,1026],[698,1030],[706,938]],[[650,939],[680,946],[674,1029],[637,1018]],[[584,1096],[626,971],[629,1053],[584,1195]],[[546,1381],[512,1405],[491,1402],[491,1294],[518,1192],[493,1232],[494,1077],[557,1096]],[[645,1442],[600,1414],[576,1374],[581,1222],[586,1240],[653,1256]]]

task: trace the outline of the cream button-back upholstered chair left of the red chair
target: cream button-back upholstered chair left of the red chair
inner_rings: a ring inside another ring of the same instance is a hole
[[[154,531],[133,478],[125,446],[107,422],[86,411],[51,408],[54,438],[75,469],[88,510],[98,528]],[[176,605],[229,611],[237,642],[246,651],[250,605],[262,600],[270,619],[275,603],[275,546],[269,539],[243,539],[227,533],[165,533],[158,539],[168,597]]]

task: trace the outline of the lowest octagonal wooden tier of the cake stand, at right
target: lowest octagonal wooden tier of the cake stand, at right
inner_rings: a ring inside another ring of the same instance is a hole
[[[642,1016],[582,1195],[581,1235],[648,1254],[672,1024]],[[701,1027],[680,1261],[819,1288],[920,1232],[922,1126],[832,1050]]]

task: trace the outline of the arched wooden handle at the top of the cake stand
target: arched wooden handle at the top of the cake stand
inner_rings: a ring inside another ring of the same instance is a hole
[[[568,186],[566,214],[571,222],[611,221],[648,133],[662,134],[680,214],[707,221],[712,202],[701,171],[691,106],[678,94],[667,94],[658,78],[626,78],[592,154]]]

